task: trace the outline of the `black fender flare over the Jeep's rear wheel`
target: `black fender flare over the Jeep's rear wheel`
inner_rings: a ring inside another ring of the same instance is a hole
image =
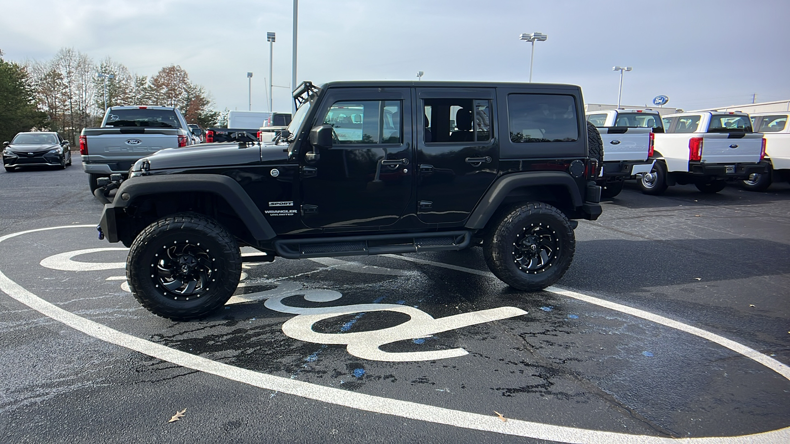
[[[488,188],[488,191],[477,206],[472,215],[466,221],[465,227],[470,229],[479,230],[484,228],[494,215],[494,212],[502,204],[510,191],[513,191],[522,186],[562,186],[568,190],[570,199],[575,207],[582,205],[581,192],[576,183],[576,179],[571,177],[568,173],[563,171],[526,171],[521,173],[512,173],[503,175],[497,179],[493,185]]]

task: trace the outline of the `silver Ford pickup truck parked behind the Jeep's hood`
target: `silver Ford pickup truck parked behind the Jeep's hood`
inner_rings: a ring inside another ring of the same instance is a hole
[[[160,149],[193,144],[190,128],[178,108],[109,107],[100,128],[82,130],[82,169],[88,173],[93,193],[100,177],[126,177],[137,159]]]

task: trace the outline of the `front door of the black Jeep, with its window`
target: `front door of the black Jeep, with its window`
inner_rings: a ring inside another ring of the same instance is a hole
[[[333,127],[333,147],[300,156],[302,220],[326,231],[394,224],[412,194],[409,88],[329,90],[310,127]]]

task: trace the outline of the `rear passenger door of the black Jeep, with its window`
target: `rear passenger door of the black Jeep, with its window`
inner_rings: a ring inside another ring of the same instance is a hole
[[[417,214],[465,220],[498,169],[494,88],[417,88]]]

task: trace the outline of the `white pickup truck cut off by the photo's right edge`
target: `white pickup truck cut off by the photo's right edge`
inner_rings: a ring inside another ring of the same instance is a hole
[[[761,112],[750,115],[751,126],[766,139],[766,160],[770,162],[768,174],[753,174],[743,180],[743,187],[764,191],[772,182],[790,182],[790,112]]]

